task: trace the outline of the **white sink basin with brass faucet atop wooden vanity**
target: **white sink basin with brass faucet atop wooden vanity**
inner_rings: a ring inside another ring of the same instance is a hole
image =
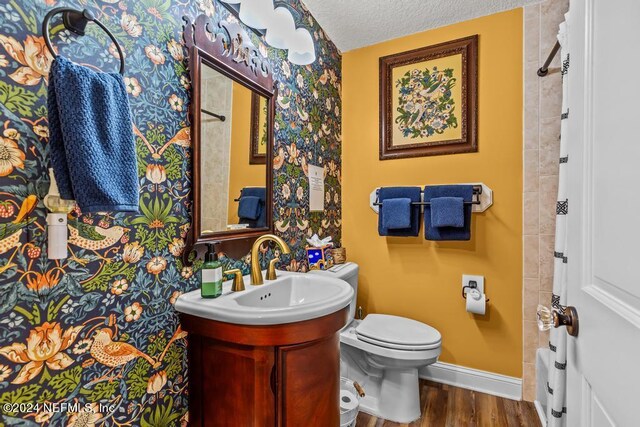
[[[346,307],[353,289],[344,280],[278,271],[276,280],[231,292],[229,280],[218,298],[202,298],[200,289],[181,295],[175,307],[181,313],[240,325],[278,325],[315,319]]]

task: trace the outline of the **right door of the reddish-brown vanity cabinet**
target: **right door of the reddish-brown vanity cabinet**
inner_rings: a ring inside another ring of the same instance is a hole
[[[278,347],[278,425],[340,425],[340,340]]]

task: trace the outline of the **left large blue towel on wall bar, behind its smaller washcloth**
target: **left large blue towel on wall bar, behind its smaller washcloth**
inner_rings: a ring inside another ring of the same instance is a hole
[[[382,203],[378,215],[378,234],[381,236],[398,236],[411,237],[420,233],[420,205],[409,204],[409,223],[404,228],[388,228],[385,222],[400,224],[400,221],[406,221],[402,218],[392,218],[393,212],[387,211],[387,208],[397,207],[396,202],[387,204],[388,200],[409,199],[409,202],[420,201],[420,187],[383,187],[378,190],[378,202]],[[399,204],[399,202],[398,202]],[[404,202],[402,202],[404,204]],[[406,212],[406,211],[404,211]]]

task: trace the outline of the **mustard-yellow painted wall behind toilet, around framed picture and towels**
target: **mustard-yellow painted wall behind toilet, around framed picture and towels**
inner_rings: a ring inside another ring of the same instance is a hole
[[[479,34],[479,151],[378,159],[378,59]],[[522,373],[522,10],[346,52],[343,73],[343,242],[360,264],[365,313],[410,317],[443,336],[441,361]],[[473,214],[469,242],[380,237],[375,187],[484,182],[494,204]],[[485,316],[465,311],[462,274],[486,277]]]

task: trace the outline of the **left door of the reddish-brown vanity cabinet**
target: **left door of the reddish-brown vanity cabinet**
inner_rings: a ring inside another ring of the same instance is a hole
[[[200,385],[202,410],[198,412],[206,415],[193,425],[275,425],[275,396],[271,384],[274,348],[234,345],[203,337],[199,337],[199,341],[200,360],[191,361],[199,369],[190,376],[190,381]]]

